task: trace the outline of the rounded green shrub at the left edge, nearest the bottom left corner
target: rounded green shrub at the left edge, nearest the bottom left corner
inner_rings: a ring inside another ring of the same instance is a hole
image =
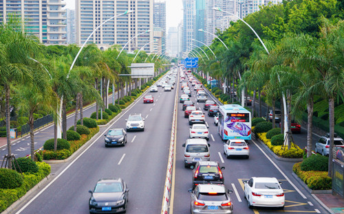
[[[13,169],[0,169],[0,189],[14,189],[23,184],[23,177]]]

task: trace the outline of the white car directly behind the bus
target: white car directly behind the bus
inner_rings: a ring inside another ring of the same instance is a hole
[[[224,143],[224,154],[229,158],[230,156],[246,156],[250,157],[250,148],[244,140],[229,139]]]

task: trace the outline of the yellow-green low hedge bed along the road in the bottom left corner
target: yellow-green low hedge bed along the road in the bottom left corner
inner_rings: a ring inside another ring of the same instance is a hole
[[[19,200],[32,187],[37,185],[43,178],[50,174],[50,165],[47,163],[36,162],[39,168],[34,174],[23,173],[23,183],[14,189],[0,189],[0,213],[5,211],[11,204]],[[21,177],[21,176],[20,176]]]

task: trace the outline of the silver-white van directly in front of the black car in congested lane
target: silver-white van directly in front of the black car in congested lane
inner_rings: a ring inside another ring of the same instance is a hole
[[[183,144],[184,150],[184,167],[193,167],[198,161],[211,160],[209,147],[211,145],[206,139],[187,139]]]

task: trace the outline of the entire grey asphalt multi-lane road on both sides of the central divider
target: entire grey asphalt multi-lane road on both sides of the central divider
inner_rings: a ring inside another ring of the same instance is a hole
[[[193,88],[192,88],[193,89]],[[87,147],[71,163],[65,163],[52,181],[33,193],[28,201],[21,203],[13,213],[88,213],[89,189],[100,178],[120,177],[129,186],[129,204],[127,213],[160,213],[162,196],[169,155],[171,123],[175,93],[182,93],[175,87],[171,92],[150,93],[153,104],[143,104],[138,99],[130,108],[123,111],[106,128],[102,128],[98,139]],[[211,97],[211,96],[208,96]],[[191,100],[202,108],[204,103],[195,101],[195,91]],[[125,119],[129,114],[140,113],[145,118],[144,132],[128,132],[125,147],[105,147],[104,134],[110,128],[125,128]],[[211,160],[219,161],[226,167],[223,170],[225,185],[232,189],[234,213],[327,213],[319,206],[312,195],[303,190],[290,171],[292,163],[275,160],[259,143],[250,141],[250,158],[226,159],[223,154],[223,141],[217,134],[213,117],[206,116],[211,137]],[[190,213],[190,193],[192,170],[184,167],[184,147],[189,138],[189,123],[184,118],[182,104],[178,103],[176,160],[174,191],[171,193],[171,211]],[[284,211],[276,209],[248,209],[244,199],[243,181],[252,176],[271,176],[283,182],[286,193]],[[171,212],[172,213],[172,212]]]

